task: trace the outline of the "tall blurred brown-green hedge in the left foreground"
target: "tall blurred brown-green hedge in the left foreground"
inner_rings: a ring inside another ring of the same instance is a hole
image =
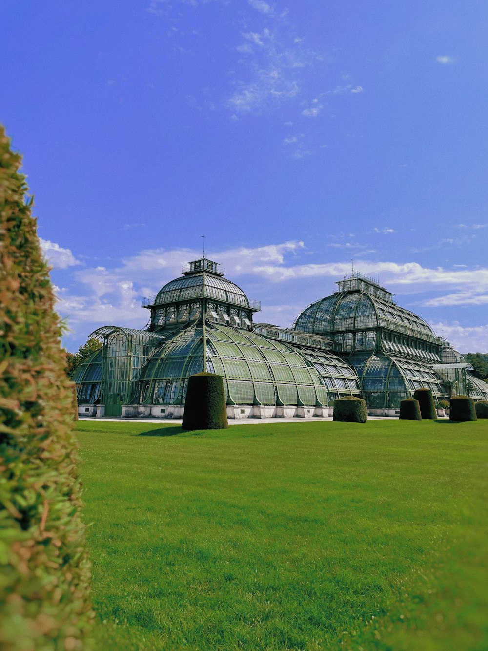
[[[86,648],[73,391],[21,157],[0,127],[0,648]]]

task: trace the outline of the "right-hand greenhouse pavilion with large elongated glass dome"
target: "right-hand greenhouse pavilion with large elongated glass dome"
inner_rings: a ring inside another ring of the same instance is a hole
[[[461,357],[420,316],[357,272],[340,281],[335,294],[308,305],[293,327],[331,337],[334,350],[357,370],[372,409],[396,409],[420,387],[430,388],[438,400],[447,398],[442,362]],[[479,391],[478,383],[472,390]]]

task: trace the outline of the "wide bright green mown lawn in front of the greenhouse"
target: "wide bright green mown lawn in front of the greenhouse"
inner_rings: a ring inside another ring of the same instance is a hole
[[[97,648],[488,648],[488,421],[78,429]]]

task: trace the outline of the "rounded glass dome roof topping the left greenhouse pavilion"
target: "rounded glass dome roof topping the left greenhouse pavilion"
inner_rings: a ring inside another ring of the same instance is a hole
[[[205,286],[205,294],[204,294]],[[205,273],[195,273],[170,281],[157,294],[154,305],[164,305],[191,298],[210,298],[239,307],[249,307],[247,296],[236,284],[225,278]]]

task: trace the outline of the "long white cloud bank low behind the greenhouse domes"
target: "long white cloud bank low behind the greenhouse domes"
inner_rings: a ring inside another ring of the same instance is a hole
[[[425,268],[416,262],[372,262],[364,259],[372,249],[361,250],[360,246],[349,241],[333,243],[332,246],[337,251],[349,251],[344,258],[352,257],[353,252],[360,255],[361,259],[354,260],[355,270],[374,278],[379,272],[380,282],[388,290],[403,295],[403,298],[407,294],[420,293],[420,301],[415,297],[417,303],[410,305],[442,309],[449,305],[475,307],[488,304],[488,268],[461,266],[443,269]],[[219,262],[226,270],[226,277],[241,284],[250,298],[262,300],[263,312],[256,317],[257,321],[289,327],[305,305],[331,294],[334,282],[351,273],[350,260],[302,264],[304,254],[309,255],[305,244],[290,240],[262,247],[209,251],[208,257]],[[59,312],[68,316],[70,326],[81,333],[79,337],[87,337],[90,331],[104,324],[142,328],[149,316],[148,311],[141,307],[142,297],[154,296],[164,284],[180,276],[183,265],[200,255],[200,251],[184,248],[144,249],[112,268],[94,266],[74,270],[75,283],[70,284],[70,290],[64,287],[58,292],[61,297]],[[444,292],[442,296],[426,298],[427,292],[439,293],[439,290]],[[404,300],[400,299],[399,303],[405,305]],[[455,333],[459,335],[457,340],[451,331],[446,331],[446,337],[456,342],[469,342],[465,344],[465,350],[476,347],[480,350],[483,332],[486,337],[484,326],[465,329],[464,339],[459,334],[460,327],[455,326]],[[485,348],[487,341],[485,339]]]

